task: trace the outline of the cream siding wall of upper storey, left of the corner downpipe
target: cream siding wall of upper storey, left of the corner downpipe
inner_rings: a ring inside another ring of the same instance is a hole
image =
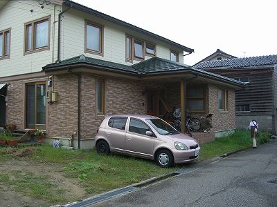
[[[33,9],[33,12],[30,10]],[[55,8],[55,20],[60,7]],[[24,23],[51,15],[50,50],[36,52],[24,56]],[[0,60],[0,77],[19,75],[42,70],[42,66],[52,63],[52,26],[54,21],[53,3],[40,8],[37,1],[9,1],[0,11],[0,31],[11,28],[10,59]],[[57,23],[55,23],[57,31]],[[55,51],[57,34],[55,34]],[[56,59],[56,52],[55,58]]]

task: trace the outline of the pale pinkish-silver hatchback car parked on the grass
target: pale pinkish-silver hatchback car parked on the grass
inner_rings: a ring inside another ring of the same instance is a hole
[[[149,115],[113,115],[102,121],[96,135],[99,155],[117,152],[152,159],[163,168],[199,157],[197,141],[166,121]]]

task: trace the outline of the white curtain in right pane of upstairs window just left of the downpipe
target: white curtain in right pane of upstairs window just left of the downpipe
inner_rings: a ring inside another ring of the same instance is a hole
[[[48,46],[48,21],[37,23],[35,26],[35,47]]]

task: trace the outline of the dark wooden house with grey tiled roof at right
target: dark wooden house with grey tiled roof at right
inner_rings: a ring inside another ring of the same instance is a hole
[[[236,127],[246,128],[256,119],[261,130],[276,133],[277,55],[204,61],[193,68],[247,83],[235,92]]]

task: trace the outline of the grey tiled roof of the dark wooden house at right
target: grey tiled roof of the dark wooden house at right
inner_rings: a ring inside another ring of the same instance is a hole
[[[266,55],[258,57],[243,57],[223,59],[217,61],[204,61],[197,63],[196,69],[230,69],[230,68],[251,68],[258,66],[273,66],[277,64],[277,55]]]

